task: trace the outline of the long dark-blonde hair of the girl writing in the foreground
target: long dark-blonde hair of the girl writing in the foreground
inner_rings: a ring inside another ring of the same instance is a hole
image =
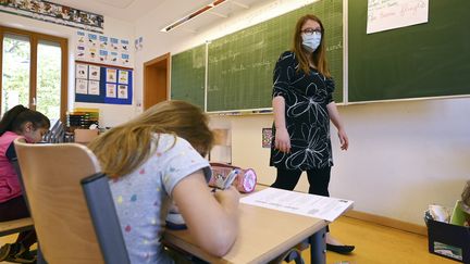
[[[132,173],[147,161],[156,149],[151,148],[156,134],[157,137],[159,134],[182,137],[202,155],[213,144],[208,117],[200,108],[184,101],[164,101],[100,135],[88,148],[100,161],[102,172],[115,178]]]

